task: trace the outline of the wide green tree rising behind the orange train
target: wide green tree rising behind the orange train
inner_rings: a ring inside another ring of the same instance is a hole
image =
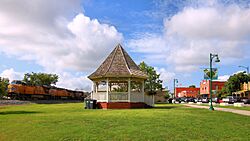
[[[28,85],[34,86],[50,86],[51,84],[56,84],[58,82],[59,76],[56,74],[47,73],[26,73],[24,75],[23,81]]]

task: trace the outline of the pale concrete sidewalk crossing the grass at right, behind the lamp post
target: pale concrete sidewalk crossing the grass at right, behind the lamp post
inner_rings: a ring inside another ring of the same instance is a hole
[[[200,105],[191,105],[191,104],[185,104],[185,106],[192,107],[192,108],[209,109],[209,106],[200,106]],[[231,112],[231,113],[235,113],[235,114],[250,116],[250,111],[246,111],[246,110],[236,110],[236,109],[218,108],[218,107],[214,107],[214,110],[216,110],[216,111],[224,111],[224,112]]]

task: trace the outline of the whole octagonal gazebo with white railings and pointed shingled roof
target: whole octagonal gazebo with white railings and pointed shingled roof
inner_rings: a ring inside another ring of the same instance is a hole
[[[144,92],[147,75],[118,44],[100,67],[88,76],[93,82],[91,98],[99,108],[144,108],[153,106],[154,96]]]

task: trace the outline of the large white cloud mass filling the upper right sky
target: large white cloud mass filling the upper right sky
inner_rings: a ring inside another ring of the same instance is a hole
[[[164,20],[162,34],[145,34],[130,40],[134,52],[146,60],[168,63],[176,71],[190,72],[208,65],[209,53],[218,53],[221,63],[249,58],[250,9],[238,5],[186,7]]]

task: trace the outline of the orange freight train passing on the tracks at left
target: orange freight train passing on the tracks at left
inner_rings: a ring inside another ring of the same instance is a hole
[[[73,91],[54,86],[30,86],[20,80],[14,80],[8,85],[8,97],[20,100],[38,99],[74,99],[83,100],[88,93]]]

